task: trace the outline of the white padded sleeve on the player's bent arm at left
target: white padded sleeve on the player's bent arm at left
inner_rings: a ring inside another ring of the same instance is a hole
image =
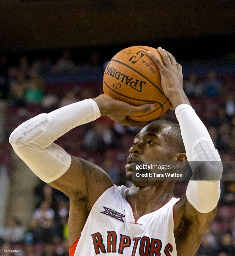
[[[50,183],[61,177],[71,164],[71,156],[53,142],[74,127],[99,117],[96,102],[86,99],[29,119],[12,132],[9,142],[28,167]]]

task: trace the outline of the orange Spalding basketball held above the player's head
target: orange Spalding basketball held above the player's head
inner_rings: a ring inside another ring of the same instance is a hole
[[[170,102],[163,93],[159,70],[148,57],[147,51],[151,51],[163,62],[155,48],[132,46],[118,52],[104,71],[105,94],[135,106],[155,104],[154,110],[129,116],[135,121],[153,120],[170,108]]]

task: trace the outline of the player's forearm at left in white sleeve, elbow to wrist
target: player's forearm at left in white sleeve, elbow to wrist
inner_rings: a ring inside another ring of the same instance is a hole
[[[37,140],[38,147],[46,148],[74,127],[99,117],[97,104],[92,99],[83,100],[29,119],[12,132],[9,142],[21,147],[29,146]]]

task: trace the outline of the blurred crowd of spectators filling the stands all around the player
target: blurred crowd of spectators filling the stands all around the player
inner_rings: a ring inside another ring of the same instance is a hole
[[[102,70],[99,55],[90,56],[86,68]],[[100,65],[100,66],[99,66]],[[49,57],[29,61],[25,56],[12,66],[7,57],[0,58],[0,98],[4,102],[5,127],[1,142],[20,123],[41,113],[102,93],[101,81],[72,84],[48,84],[48,74],[74,74],[85,68],[75,65],[70,51],[62,53],[56,61]],[[195,71],[196,72],[196,71]],[[184,90],[191,105],[207,126],[212,141],[223,161],[235,161],[235,98],[230,78],[219,77],[208,70],[206,77],[191,73],[184,80]],[[160,119],[177,122],[174,111],[167,111]],[[121,126],[108,117],[77,127],[56,143],[68,153],[101,166],[116,185],[125,181],[125,163],[133,138],[140,127]],[[0,163],[1,164],[1,163]],[[175,196],[186,191],[187,183],[177,182]],[[6,227],[0,227],[2,248],[23,248],[18,256],[68,255],[69,199],[58,190],[41,182],[35,188],[35,210],[28,227],[16,217]],[[9,255],[9,254],[8,254]],[[215,221],[202,237],[197,256],[235,255],[235,183],[221,182],[221,198]]]

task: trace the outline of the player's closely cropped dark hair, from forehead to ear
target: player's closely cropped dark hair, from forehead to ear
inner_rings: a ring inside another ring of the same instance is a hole
[[[156,125],[160,127],[161,130],[163,130],[165,135],[170,136],[172,138],[170,145],[174,148],[176,153],[186,153],[180,127],[178,124],[167,120],[156,120],[148,125]],[[164,128],[167,127],[170,127],[170,129],[166,129],[164,131]]]

